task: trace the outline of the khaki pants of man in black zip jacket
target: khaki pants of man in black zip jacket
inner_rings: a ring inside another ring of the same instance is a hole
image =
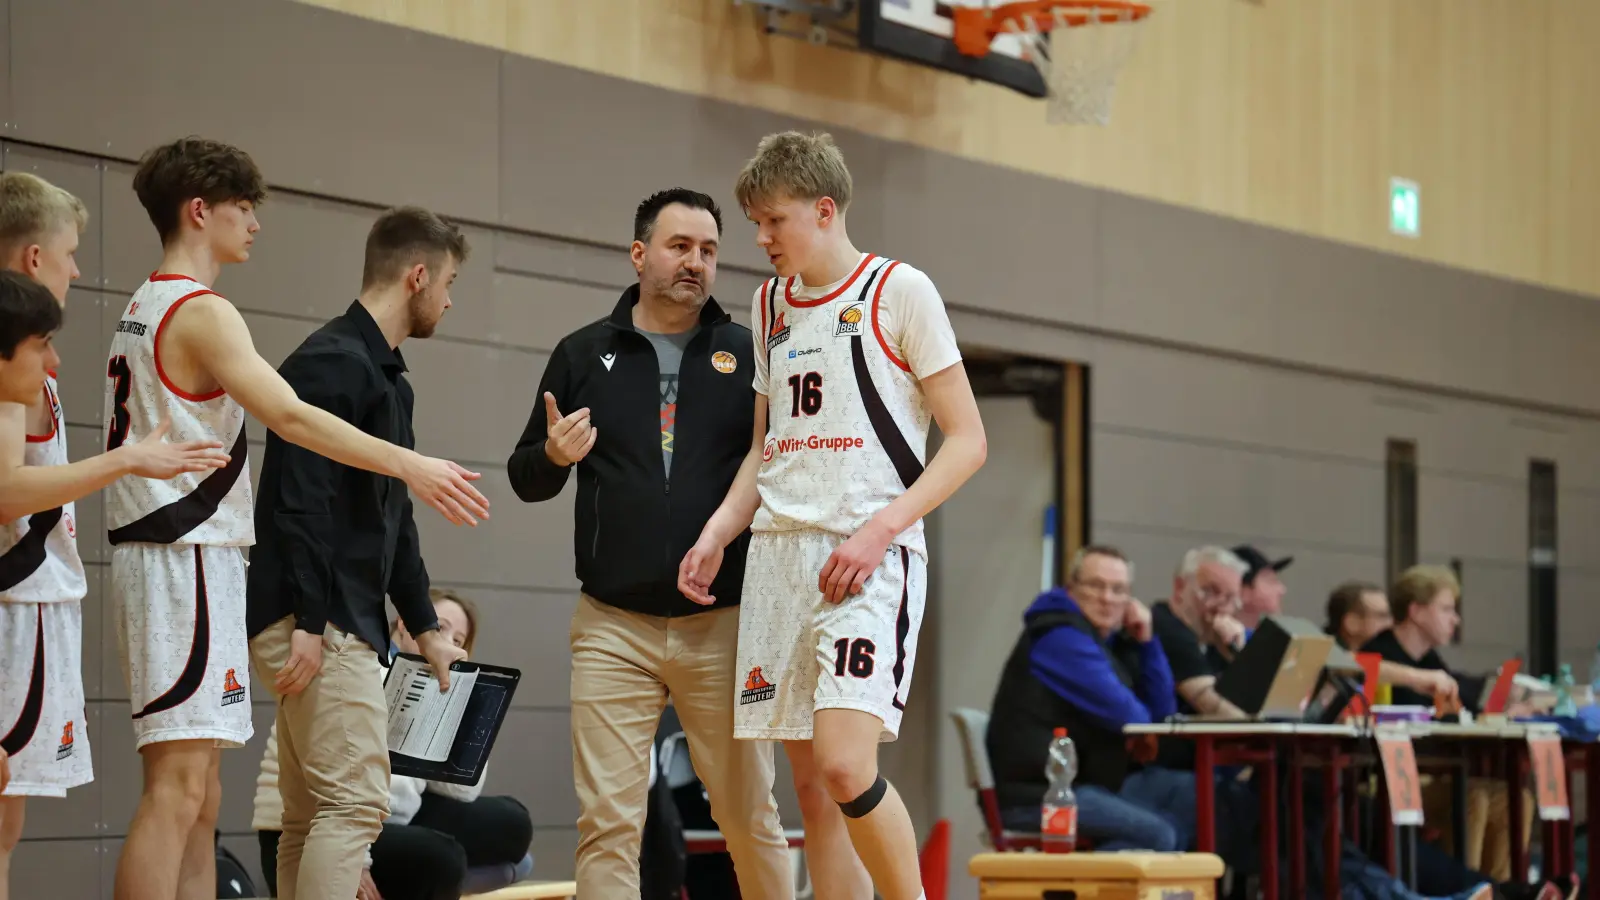
[[[752,900],[790,900],[789,847],[773,799],[773,745],[733,740],[739,610],[640,615],[579,597],[573,615],[573,775],[578,895],[638,898],[650,746],[667,695],[710,814]]]

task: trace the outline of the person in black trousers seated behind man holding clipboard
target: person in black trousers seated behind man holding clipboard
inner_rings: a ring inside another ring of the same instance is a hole
[[[469,655],[477,641],[477,607],[453,591],[434,589],[440,631]],[[416,653],[416,641],[395,621],[390,653]],[[261,870],[277,895],[278,836],[283,801],[278,796],[277,729],[256,778],[254,828],[261,841]],[[456,900],[525,878],[533,868],[528,846],[533,820],[512,798],[483,798],[475,786],[394,775],[389,780],[389,818],[368,852],[363,894],[382,900]],[[376,894],[371,890],[376,889]]]

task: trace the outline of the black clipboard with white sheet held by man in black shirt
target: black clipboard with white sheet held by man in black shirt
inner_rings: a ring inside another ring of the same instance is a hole
[[[398,653],[384,679],[389,769],[394,775],[477,785],[483,778],[522,673],[456,661],[450,690],[419,655]]]

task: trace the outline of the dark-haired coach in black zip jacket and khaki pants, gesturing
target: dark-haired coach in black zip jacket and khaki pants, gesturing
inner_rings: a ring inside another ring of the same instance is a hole
[[[667,695],[746,897],[792,898],[773,801],[773,748],[733,740],[734,652],[749,536],[730,544],[702,607],[678,562],[755,439],[750,330],[710,298],[722,213],[662,191],[634,218],[638,283],[555,346],[507,469],[528,503],[578,469],[573,543],[573,773],[578,895],[640,897],[650,746]]]

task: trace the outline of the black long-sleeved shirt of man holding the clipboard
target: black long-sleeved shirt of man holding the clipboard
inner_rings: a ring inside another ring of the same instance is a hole
[[[278,368],[301,400],[410,450],[414,396],[403,372],[400,351],[358,301]],[[269,431],[250,551],[250,636],[285,617],[312,634],[331,623],[387,661],[386,589],[411,634],[438,628],[405,482],[334,463]]]

